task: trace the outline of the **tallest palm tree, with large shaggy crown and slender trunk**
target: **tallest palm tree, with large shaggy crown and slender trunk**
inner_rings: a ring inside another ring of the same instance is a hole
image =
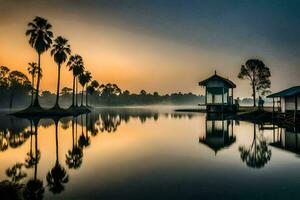
[[[38,79],[33,103],[35,107],[40,107],[38,95],[40,89],[41,54],[51,47],[53,37],[51,28],[52,25],[47,19],[35,17],[32,22],[28,23],[28,30],[25,33],[26,36],[29,36],[29,44],[38,54]]]

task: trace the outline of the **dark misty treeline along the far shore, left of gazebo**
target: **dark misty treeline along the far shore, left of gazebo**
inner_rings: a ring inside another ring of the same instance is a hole
[[[76,57],[71,58],[76,59]],[[73,61],[72,61],[73,62]],[[72,63],[71,62],[71,63]],[[76,62],[76,61],[74,61]],[[69,107],[74,105],[91,105],[91,106],[126,106],[126,105],[197,105],[204,102],[204,96],[193,93],[172,93],[161,95],[158,92],[148,93],[141,90],[140,93],[130,93],[128,90],[120,89],[116,84],[102,84],[96,80],[91,80],[89,72],[80,72],[82,69],[76,68],[69,64],[70,70],[73,71],[74,79],[73,88],[63,87],[60,93],[52,93],[50,91],[42,91],[39,96],[39,105],[44,107],[52,107],[53,105]],[[36,89],[33,87],[36,77],[36,64],[29,63],[28,71],[32,76],[29,78],[18,71],[10,71],[8,67],[0,68],[0,95],[9,97],[0,99],[1,108],[22,108],[34,103],[34,93]],[[79,72],[78,72],[79,71]],[[80,93],[76,92],[76,77],[82,86]],[[42,74],[40,74],[40,78]],[[88,84],[90,83],[90,84]],[[88,84],[88,85],[87,85]],[[59,85],[59,83],[58,83]],[[59,89],[60,86],[58,86]],[[85,98],[84,98],[85,96]]]

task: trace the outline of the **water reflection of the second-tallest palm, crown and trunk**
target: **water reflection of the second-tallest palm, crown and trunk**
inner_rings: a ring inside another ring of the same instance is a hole
[[[54,167],[47,173],[47,183],[49,190],[54,194],[62,192],[69,181],[67,171],[60,165],[58,159],[58,121],[55,121],[55,141],[56,141],[56,162]]]

